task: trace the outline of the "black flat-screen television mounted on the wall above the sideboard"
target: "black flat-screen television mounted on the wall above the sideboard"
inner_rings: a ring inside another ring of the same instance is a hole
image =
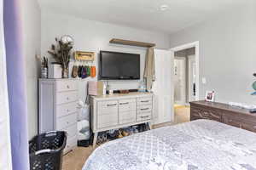
[[[101,80],[140,79],[140,54],[101,51],[99,60]]]

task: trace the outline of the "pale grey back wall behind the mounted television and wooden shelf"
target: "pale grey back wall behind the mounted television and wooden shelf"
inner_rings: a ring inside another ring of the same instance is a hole
[[[50,45],[55,42],[55,37],[61,37],[62,35],[71,35],[74,38],[75,50],[93,51],[97,54],[100,50],[141,54],[141,77],[143,77],[146,48],[110,44],[109,40],[112,38],[123,38],[142,42],[154,42],[157,45],[156,48],[170,47],[170,39],[167,34],[117,26],[94,20],[84,20],[71,15],[53,14],[44,11],[42,13],[41,34],[42,55],[50,58],[49,54],[47,54]],[[96,59],[93,65],[96,65],[97,62]],[[71,65],[73,64],[71,63]],[[85,82],[87,80],[90,80],[90,78],[85,79]],[[80,89],[85,89],[83,83],[80,87]],[[110,87],[113,89],[137,88],[138,81],[111,82]],[[83,91],[82,93],[84,94],[85,92]],[[81,95],[81,97],[83,96]]]

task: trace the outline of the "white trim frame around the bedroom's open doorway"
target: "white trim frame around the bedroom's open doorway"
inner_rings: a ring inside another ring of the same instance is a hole
[[[185,43],[183,45],[171,48],[172,52],[172,59],[174,59],[174,54],[177,51],[187,49],[187,48],[195,48],[195,100],[200,99],[200,54],[199,54],[199,41],[196,42],[190,42],[190,43]],[[173,60],[174,62],[174,60]],[[173,63],[172,62],[172,63]],[[172,80],[172,88],[174,86],[174,81]],[[172,92],[174,92],[172,90]]]

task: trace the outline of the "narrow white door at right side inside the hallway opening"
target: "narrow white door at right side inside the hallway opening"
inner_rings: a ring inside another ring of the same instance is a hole
[[[189,55],[189,102],[195,101],[195,55]]]

